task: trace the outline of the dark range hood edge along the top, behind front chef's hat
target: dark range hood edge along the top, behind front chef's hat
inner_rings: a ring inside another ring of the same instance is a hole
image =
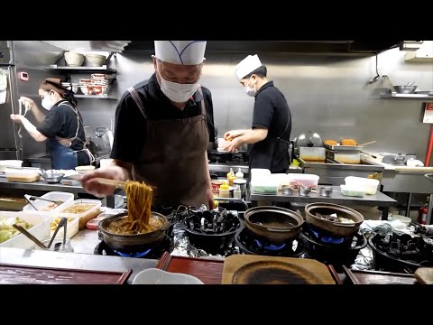
[[[321,53],[371,56],[402,41],[207,41],[207,52]],[[153,41],[133,41],[124,51],[153,51]]]

